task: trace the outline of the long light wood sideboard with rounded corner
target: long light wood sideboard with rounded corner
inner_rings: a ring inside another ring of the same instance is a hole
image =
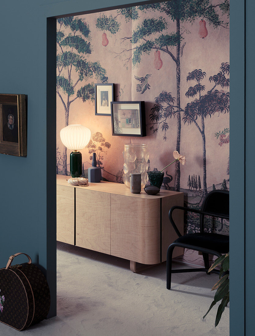
[[[57,240],[130,260],[158,264],[166,260],[168,246],[177,239],[168,212],[183,206],[183,193],[161,190],[159,194],[131,194],[120,183],[89,183],[74,186],[70,176],[57,175]],[[173,219],[183,233],[183,211]],[[173,257],[183,254],[175,248]]]

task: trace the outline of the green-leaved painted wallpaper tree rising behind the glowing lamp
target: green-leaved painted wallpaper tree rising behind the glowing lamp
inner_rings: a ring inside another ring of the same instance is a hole
[[[65,126],[68,126],[70,105],[77,98],[83,102],[94,101],[94,83],[78,85],[88,79],[100,78],[107,82],[106,72],[99,62],[86,59],[91,54],[89,26],[73,16],[57,20],[57,83],[56,92],[65,110]],[[74,71],[75,70],[75,71]],[[63,175],[67,175],[67,148],[63,159]]]

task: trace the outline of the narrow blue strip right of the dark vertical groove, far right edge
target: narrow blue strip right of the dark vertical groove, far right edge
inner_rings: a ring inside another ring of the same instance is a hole
[[[254,37],[254,0],[245,2],[245,328],[246,335],[254,334],[255,266],[254,266],[254,145],[255,145],[255,37]],[[237,133],[238,134],[238,133]],[[234,149],[233,149],[234,150]],[[233,158],[234,160],[234,158]],[[233,161],[232,160],[232,161]]]

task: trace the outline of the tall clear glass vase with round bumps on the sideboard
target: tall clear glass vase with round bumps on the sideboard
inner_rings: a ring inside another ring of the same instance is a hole
[[[123,165],[123,182],[130,187],[130,174],[141,174],[141,188],[148,181],[148,159],[149,153],[146,144],[126,143],[124,145],[124,165]]]

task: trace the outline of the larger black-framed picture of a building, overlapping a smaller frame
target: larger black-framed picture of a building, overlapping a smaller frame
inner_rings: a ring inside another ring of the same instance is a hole
[[[146,136],[144,101],[112,101],[112,135]]]

